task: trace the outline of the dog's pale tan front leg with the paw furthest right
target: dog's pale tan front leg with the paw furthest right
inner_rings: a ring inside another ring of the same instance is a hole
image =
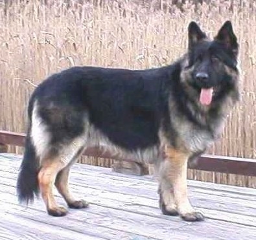
[[[185,221],[202,221],[204,215],[192,208],[187,197],[188,158],[189,155],[186,153],[173,147],[165,147],[165,160],[161,164],[159,176],[161,194],[165,196],[169,191],[170,199],[174,199],[176,209]],[[170,189],[166,189],[168,186],[171,186]]]

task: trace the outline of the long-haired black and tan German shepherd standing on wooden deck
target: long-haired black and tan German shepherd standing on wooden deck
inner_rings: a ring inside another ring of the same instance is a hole
[[[187,162],[219,138],[239,100],[239,44],[230,21],[209,39],[192,21],[188,51],[156,69],[72,67],[49,76],[32,93],[19,202],[41,191],[47,212],[63,216],[55,184],[69,208],[86,208],[68,188],[69,170],[86,147],[154,164],[165,215],[202,221],[187,197]]]

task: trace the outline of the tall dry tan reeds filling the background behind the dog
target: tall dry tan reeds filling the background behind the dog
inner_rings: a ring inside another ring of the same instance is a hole
[[[131,69],[166,65],[186,51],[189,21],[198,21],[214,36],[222,23],[231,19],[240,44],[242,100],[211,153],[256,158],[254,1],[217,0],[198,5],[196,10],[187,3],[182,11],[163,0],[150,5],[106,0],[103,6],[97,4],[98,0],[94,5],[71,0],[69,8],[62,4],[64,1],[49,1],[51,8],[40,1],[13,2],[17,4],[0,8],[1,129],[25,131],[32,83],[40,83],[53,72],[73,65]],[[95,164],[95,160],[92,162]],[[255,179],[230,175],[194,171],[190,177],[255,186]]]

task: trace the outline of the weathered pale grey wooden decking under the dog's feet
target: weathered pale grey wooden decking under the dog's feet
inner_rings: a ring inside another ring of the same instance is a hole
[[[256,190],[189,181],[192,204],[206,219],[186,223],[161,214],[153,177],[76,164],[71,189],[91,204],[56,218],[41,199],[28,208],[17,204],[20,160],[0,154],[0,239],[256,239]]]

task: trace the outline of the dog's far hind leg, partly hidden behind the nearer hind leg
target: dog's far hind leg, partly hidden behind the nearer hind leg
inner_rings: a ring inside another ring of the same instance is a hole
[[[65,201],[69,208],[86,208],[88,206],[88,202],[84,200],[76,200],[69,190],[69,173],[71,166],[76,162],[77,158],[82,154],[82,148],[76,153],[73,160],[62,169],[55,180],[55,186],[59,193],[64,197]]]

